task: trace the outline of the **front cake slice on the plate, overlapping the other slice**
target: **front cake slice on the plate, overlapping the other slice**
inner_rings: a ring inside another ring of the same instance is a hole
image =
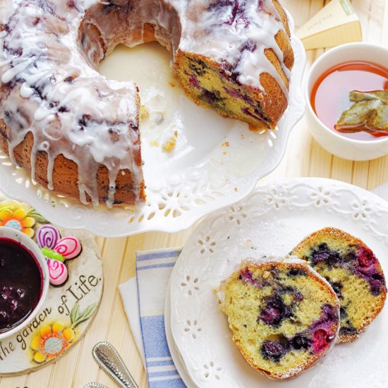
[[[245,261],[223,281],[219,296],[244,358],[274,379],[310,368],[335,344],[339,300],[305,261]]]

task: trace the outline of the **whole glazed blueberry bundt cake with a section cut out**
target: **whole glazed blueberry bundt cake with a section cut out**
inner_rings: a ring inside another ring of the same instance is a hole
[[[157,40],[195,102],[274,128],[287,107],[289,36],[277,0],[2,1],[1,150],[81,202],[144,201],[138,89],[99,75],[99,62],[119,43]]]

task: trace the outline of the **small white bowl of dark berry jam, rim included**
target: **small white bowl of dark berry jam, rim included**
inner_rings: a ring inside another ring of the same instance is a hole
[[[49,269],[38,245],[22,232],[0,226],[0,341],[28,325],[48,289]]]

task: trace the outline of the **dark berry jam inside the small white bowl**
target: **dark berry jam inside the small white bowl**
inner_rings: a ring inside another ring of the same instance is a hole
[[[42,294],[35,257],[20,244],[0,238],[0,334],[23,322]]]

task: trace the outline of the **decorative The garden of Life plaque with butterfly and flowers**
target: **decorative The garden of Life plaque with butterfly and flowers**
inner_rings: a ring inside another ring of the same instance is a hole
[[[32,207],[0,193],[0,226],[22,231],[38,243],[50,270],[49,291],[35,318],[0,341],[0,376],[43,368],[87,332],[102,298],[103,274],[94,237],[57,228]]]

